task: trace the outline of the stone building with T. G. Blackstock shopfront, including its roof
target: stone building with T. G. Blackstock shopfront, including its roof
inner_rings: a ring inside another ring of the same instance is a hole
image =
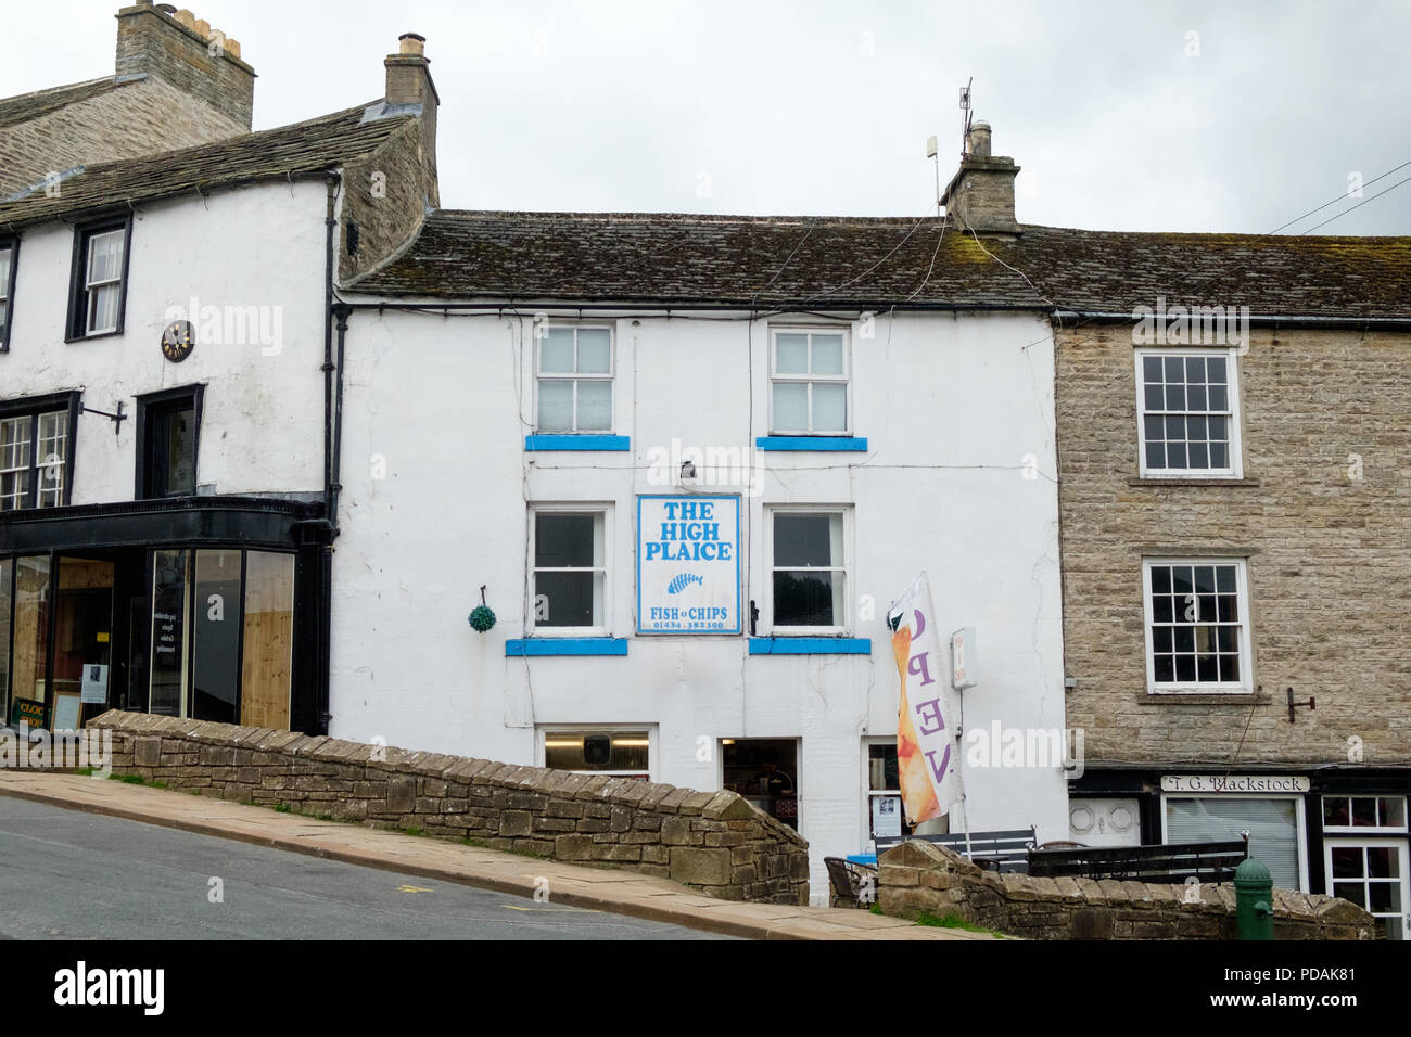
[[[1277,885],[1404,934],[1411,240],[996,254],[1055,310],[1071,838],[1249,830]]]

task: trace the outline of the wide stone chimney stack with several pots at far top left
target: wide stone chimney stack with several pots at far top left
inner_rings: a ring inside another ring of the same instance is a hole
[[[240,59],[240,42],[172,4],[137,0],[117,13],[119,79],[148,75],[251,127],[255,71]]]

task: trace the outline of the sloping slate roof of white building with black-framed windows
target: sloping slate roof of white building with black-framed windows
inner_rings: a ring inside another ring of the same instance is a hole
[[[344,165],[374,151],[413,119],[404,114],[364,121],[365,113],[381,109],[382,102],[374,102],[278,130],[90,165],[61,181],[54,198],[47,198],[40,185],[0,200],[0,226]]]

